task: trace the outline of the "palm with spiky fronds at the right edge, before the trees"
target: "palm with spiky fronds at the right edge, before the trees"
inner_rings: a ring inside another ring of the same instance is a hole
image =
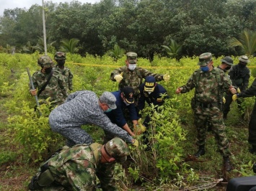
[[[244,53],[251,56],[256,51],[256,32],[244,29],[239,39],[233,37],[228,41],[228,44],[230,47],[242,47]]]

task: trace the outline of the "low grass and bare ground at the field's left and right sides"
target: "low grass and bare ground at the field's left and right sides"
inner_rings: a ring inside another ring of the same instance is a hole
[[[1,98],[0,103],[8,101],[8,97]],[[27,162],[27,159],[22,158],[19,145],[12,141],[12,134],[6,129],[7,115],[1,108],[1,123],[0,123],[0,190],[27,190],[27,185],[32,176],[37,171],[39,165]],[[247,143],[248,121],[239,120],[239,113],[236,108],[236,103],[232,103],[231,112],[229,113],[226,123],[226,134],[231,143],[231,152],[234,156],[231,157],[231,162],[234,168],[240,171],[243,164],[248,164],[250,161],[255,162],[255,155],[248,152],[249,145]],[[197,151],[195,145],[195,127],[189,124],[182,125],[187,129],[187,141],[185,141],[184,148],[187,154],[193,154]],[[85,129],[100,141],[102,139],[102,129],[95,131],[94,126],[84,126]],[[186,157],[186,156],[184,156]],[[224,178],[224,181],[219,183],[216,187],[208,188],[207,190],[226,190],[228,180],[232,177],[241,176],[239,172],[223,172],[222,171],[222,157],[217,152],[216,141],[211,132],[208,132],[206,139],[206,154],[198,160],[199,162],[187,162],[191,168],[197,172],[200,177],[211,178],[211,181]],[[203,183],[203,182],[202,182]],[[137,190],[144,190],[144,187]],[[162,190],[165,190],[164,185]]]

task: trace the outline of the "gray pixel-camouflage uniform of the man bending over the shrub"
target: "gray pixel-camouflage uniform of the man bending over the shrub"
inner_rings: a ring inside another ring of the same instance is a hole
[[[56,129],[69,131],[67,128],[94,124],[130,143],[133,139],[125,130],[111,123],[100,108],[99,98],[89,90],[71,93],[65,103],[51,111],[49,122],[53,131]],[[70,137],[66,138],[70,139]],[[87,141],[84,144],[88,144]]]

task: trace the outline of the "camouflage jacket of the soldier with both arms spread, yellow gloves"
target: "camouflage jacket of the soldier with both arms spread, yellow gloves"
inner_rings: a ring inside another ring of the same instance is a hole
[[[132,71],[129,70],[126,65],[112,71],[110,79],[115,81],[115,75],[121,73],[123,73],[123,80],[121,80],[119,83],[119,90],[125,86],[131,86],[134,89],[135,95],[139,94],[138,86],[143,83],[143,79],[145,79],[146,76],[154,76],[154,78],[156,78],[156,82],[163,80],[162,74],[151,73],[149,70],[146,70],[142,67],[136,67],[135,70]]]

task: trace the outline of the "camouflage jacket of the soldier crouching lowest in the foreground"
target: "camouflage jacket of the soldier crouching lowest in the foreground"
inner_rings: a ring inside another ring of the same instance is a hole
[[[116,190],[112,185],[113,172],[109,171],[107,164],[100,163],[102,144],[94,144],[94,146],[87,144],[67,146],[66,149],[48,159],[45,164],[48,164],[55,182],[43,187],[42,190],[95,190],[96,176],[100,180],[103,191]],[[38,169],[37,175],[40,171],[41,168]]]

